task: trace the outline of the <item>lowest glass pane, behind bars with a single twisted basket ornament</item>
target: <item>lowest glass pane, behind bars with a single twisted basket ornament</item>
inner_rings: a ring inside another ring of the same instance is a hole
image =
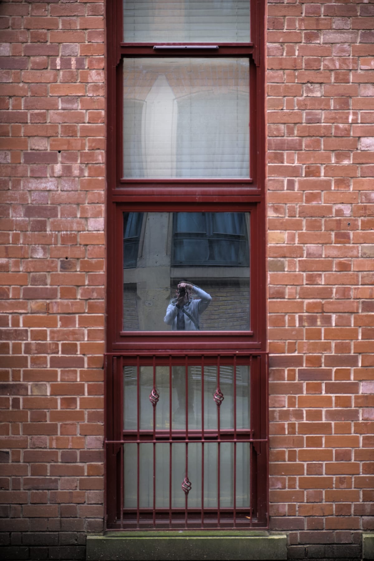
[[[156,508],[169,508],[169,490],[172,477],[172,508],[184,508],[186,496],[182,489],[186,477],[186,449],[188,450],[187,477],[191,489],[188,508],[201,507],[202,450],[204,447],[204,507],[218,507],[218,444],[200,442],[169,444],[124,444],[124,508],[153,508],[153,490],[156,490]],[[139,458],[137,457],[139,450]],[[155,477],[153,476],[155,450]],[[170,470],[170,450],[172,454]],[[235,452],[236,450],[236,452]],[[234,454],[236,454],[236,489],[234,489]],[[139,481],[137,464],[139,461]],[[233,508],[234,493],[238,508],[250,507],[250,444],[225,442],[220,444],[220,507]],[[249,513],[248,513],[249,514]]]

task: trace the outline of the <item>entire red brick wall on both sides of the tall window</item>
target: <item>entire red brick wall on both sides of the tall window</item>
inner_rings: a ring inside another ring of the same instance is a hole
[[[25,558],[84,558],[103,528],[103,4],[0,4],[0,544]],[[267,8],[271,527],[293,557],[355,558],[373,529],[374,4]]]

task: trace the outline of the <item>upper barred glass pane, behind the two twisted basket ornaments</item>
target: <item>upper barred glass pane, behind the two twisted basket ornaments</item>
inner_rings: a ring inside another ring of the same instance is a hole
[[[204,380],[201,366],[187,368],[172,367],[172,429],[186,428],[186,403],[188,429],[202,429],[202,402],[204,402],[204,430],[218,427],[218,406],[214,401],[216,389],[220,387],[223,401],[219,406],[221,429],[234,427],[234,367],[220,366],[219,384],[217,367],[205,365]],[[170,371],[169,366],[156,366],[155,387],[158,393],[156,403],[156,430],[170,428]],[[204,387],[204,394],[202,388]],[[153,367],[140,367],[139,416],[140,430],[153,430],[153,405],[149,396],[153,389]],[[250,427],[250,367],[237,365],[236,369],[237,428]],[[123,429],[137,429],[137,375],[136,366],[123,367]]]

